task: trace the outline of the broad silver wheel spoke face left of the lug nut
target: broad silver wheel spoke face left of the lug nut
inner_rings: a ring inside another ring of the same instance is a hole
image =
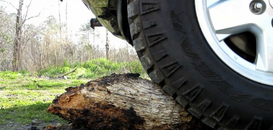
[[[214,3],[213,3],[214,2]],[[219,41],[245,31],[255,24],[249,0],[215,0],[207,2],[210,19]],[[251,16],[251,17],[250,17]]]

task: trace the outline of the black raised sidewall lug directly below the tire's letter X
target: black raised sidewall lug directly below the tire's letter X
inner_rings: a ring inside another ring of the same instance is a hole
[[[212,112],[211,117],[215,119],[217,122],[221,122],[228,109],[229,105],[223,103],[217,110]]]

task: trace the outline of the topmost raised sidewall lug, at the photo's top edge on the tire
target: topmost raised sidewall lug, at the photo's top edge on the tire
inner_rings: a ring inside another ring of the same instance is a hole
[[[156,1],[147,1],[147,0],[142,0],[141,1],[141,15],[160,10],[160,2]]]

